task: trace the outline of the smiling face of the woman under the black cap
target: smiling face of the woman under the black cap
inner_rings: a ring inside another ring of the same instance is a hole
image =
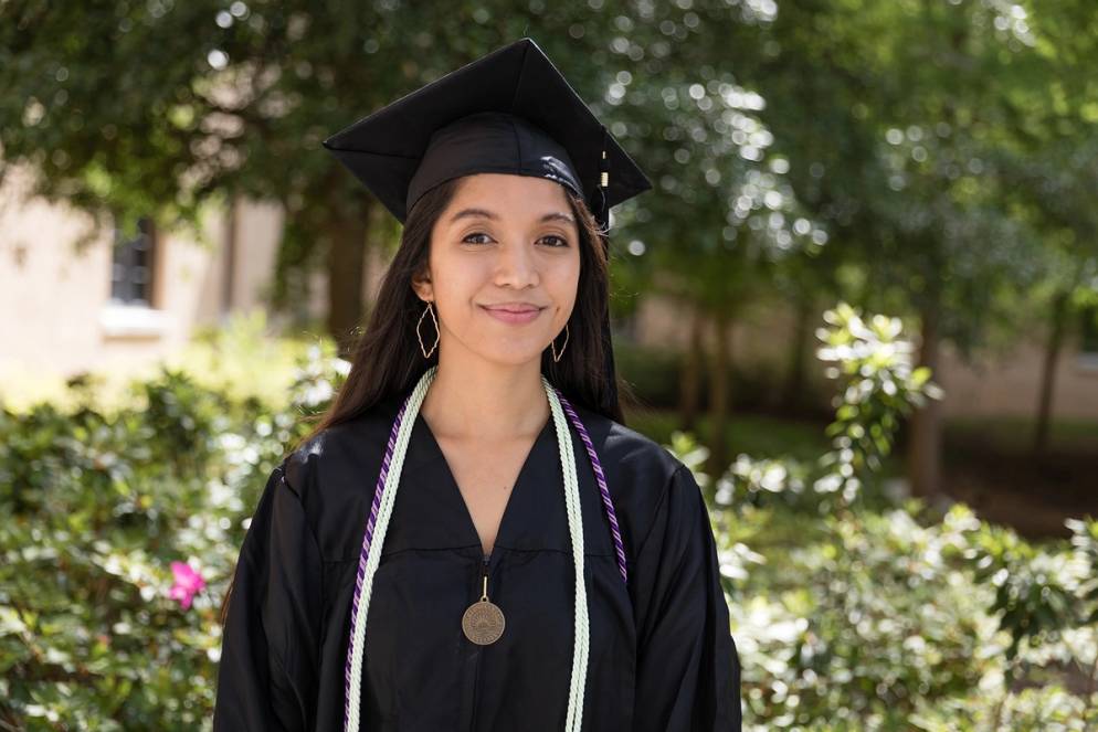
[[[427,278],[413,282],[420,299],[434,303],[440,352],[464,349],[506,364],[540,360],[576,304],[579,247],[559,183],[463,178],[432,229]],[[425,338],[429,347],[433,340]]]

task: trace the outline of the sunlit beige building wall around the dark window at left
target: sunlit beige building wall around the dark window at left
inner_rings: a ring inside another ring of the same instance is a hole
[[[0,189],[0,394],[13,384],[84,370],[135,370],[181,347],[223,312],[229,218],[203,222],[208,243],[159,232],[152,307],[113,306],[110,234],[84,248],[86,214],[23,200],[25,170]],[[277,210],[244,203],[236,216],[233,307],[258,307],[274,266]]]

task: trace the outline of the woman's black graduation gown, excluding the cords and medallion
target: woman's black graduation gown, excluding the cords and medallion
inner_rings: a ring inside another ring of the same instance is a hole
[[[217,732],[342,730],[351,596],[392,399],[330,427],[272,473],[240,552],[222,639]],[[694,476],[658,444],[576,405],[616,510],[622,581],[583,443],[590,616],[583,730],[740,730],[740,669],[712,531]],[[363,732],[560,732],[574,639],[574,570],[550,418],[488,558],[503,636],[462,632],[484,552],[461,490],[416,415],[367,615]]]

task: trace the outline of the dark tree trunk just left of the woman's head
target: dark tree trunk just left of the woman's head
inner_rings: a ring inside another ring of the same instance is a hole
[[[366,270],[366,234],[372,199],[339,212],[328,226],[328,332],[349,358],[355,329],[362,318],[362,277]]]

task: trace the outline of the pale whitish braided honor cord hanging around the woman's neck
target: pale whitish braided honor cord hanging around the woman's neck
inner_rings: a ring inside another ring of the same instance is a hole
[[[431,382],[434,381],[439,367],[426,370],[419,383],[412,390],[403,421],[397,433],[392,460],[386,476],[384,488],[378,510],[377,526],[367,556],[366,572],[362,580],[361,597],[355,627],[351,628],[351,668],[350,691],[347,699],[347,732],[358,732],[362,689],[362,657],[366,648],[366,618],[370,609],[370,594],[373,587],[373,575],[381,562],[381,550],[384,545],[386,530],[392,516],[393,503],[397,499],[397,488],[400,486],[400,474],[404,466],[404,454],[415,424],[415,416],[423,404]],[[580,511],[580,486],[576,474],[576,454],[572,452],[572,438],[568,429],[557,392],[543,375],[541,383],[549,397],[549,410],[552,413],[553,426],[557,429],[557,443],[560,447],[560,468],[564,478],[564,508],[568,512],[568,531],[572,538],[572,559],[576,564],[576,648],[572,654],[572,679],[568,692],[568,715],[564,721],[564,732],[580,732],[583,722],[583,690],[587,686],[588,654],[590,649],[590,618],[588,616],[587,585],[583,582],[583,520]]]

